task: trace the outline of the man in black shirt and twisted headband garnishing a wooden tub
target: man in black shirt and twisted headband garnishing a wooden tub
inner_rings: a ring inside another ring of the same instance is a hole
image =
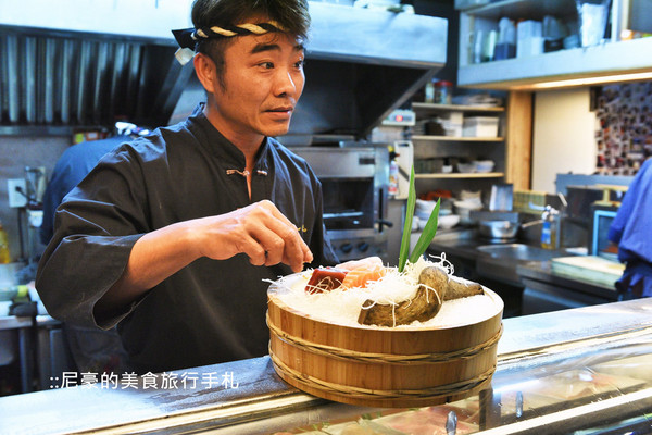
[[[264,279],[337,262],[319,182],[272,138],[303,90],[306,2],[197,0],[192,21],[205,104],[102,159],[36,283],[55,318],[117,324],[139,373],[267,353]]]

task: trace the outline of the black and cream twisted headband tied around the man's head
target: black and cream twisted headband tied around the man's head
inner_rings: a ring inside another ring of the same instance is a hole
[[[181,65],[195,55],[195,47],[202,39],[230,38],[241,35],[264,35],[268,32],[287,32],[275,21],[266,23],[243,23],[229,27],[213,26],[209,28],[181,28],[172,30],[179,49],[174,54]]]

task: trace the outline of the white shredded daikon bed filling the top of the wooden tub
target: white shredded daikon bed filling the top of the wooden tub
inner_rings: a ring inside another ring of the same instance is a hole
[[[404,271],[399,273],[397,268],[388,268],[387,274],[380,279],[368,282],[366,287],[336,288],[330,291],[310,294],[305,291],[312,270],[300,274],[290,275],[276,281],[277,297],[291,309],[324,322],[337,323],[346,326],[365,326],[358,323],[360,310],[366,300],[381,304],[399,304],[414,298],[418,289],[421,272],[430,265],[438,265],[452,274],[452,264],[442,254],[440,258],[431,257],[437,262],[421,258],[416,263],[408,262]],[[410,325],[400,325],[397,328],[455,326],[479,322],[498,312],[493,299],[487,295],[471,296],[467,298],[450,300],[442,303],[435,318],[428,322],[413,322]]]

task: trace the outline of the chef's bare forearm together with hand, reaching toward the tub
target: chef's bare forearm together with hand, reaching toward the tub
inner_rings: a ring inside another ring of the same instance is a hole
[[[172,224],[136,241],[123,275],[96,303],[96,320],[124,312],[149,289],[200,257],[226,260],[238,253],[247,254],[253,265],[284,262],[296,272],[313,260],[294,224],[268,200]]]

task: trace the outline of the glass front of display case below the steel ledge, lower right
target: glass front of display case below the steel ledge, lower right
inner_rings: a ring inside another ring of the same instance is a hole
[[[309,424],[277,427],[276,433],[651,433],[652,331],[609,338],[500,358],[492,387],[464,400],[418,409],[365,409],[355,415],[347,415],[350,409],[341,415],[314,411]]]

